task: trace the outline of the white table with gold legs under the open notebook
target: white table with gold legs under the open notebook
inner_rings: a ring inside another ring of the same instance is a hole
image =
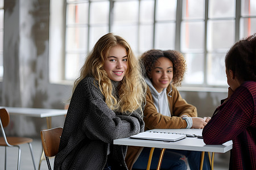
[[[196,134],[201,135],[203,129],[152,129],[150,131],[162,131],[168,133],[181,133],[181,134]],[[114,145],[127,145],[127,146],[141,146],[141,147],[151,147],[151,151],[154,148],[163,148],[159,158],[158,169],[160,169],[160,164],[162,163],[162,157],[165,149],[175,149],[175,150],[189,150],[189,151],[202,151],[202,157],[204,158],[204,152],[213,152],[212,155],[212,165],[213,169],[213,157],[214,152],[225,153],[232,149],[233,142],[228,141],[222,145],[206,145],[201,138],[196,137],[186,137],[176,142],[163,142],[163,141],[152,141],[144,139],[131,139],[123,138],[114,140]],[[150,153],[148,159],[148,167],[150,168],[150,163],[152,159],[152,152]],[[200,167],[203,168],[203,160],[201,160]]]

